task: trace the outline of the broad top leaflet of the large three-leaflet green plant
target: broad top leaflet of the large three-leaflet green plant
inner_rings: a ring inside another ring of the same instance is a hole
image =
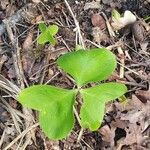
[[[107,79],[116,68],[115,55],[105,48],[78,50],[58,58],[57,64],[82,86]]]

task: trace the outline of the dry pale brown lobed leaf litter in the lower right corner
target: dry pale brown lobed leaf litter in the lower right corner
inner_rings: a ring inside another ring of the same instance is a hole
[[[149,94],[148,91],[139,93],[149,98],[149,95],[147,95]],[[149,149],[143,143],[147,143],[147,136],[149,136],[147,135],[148,133],[144,134],[144,132],[150,125],[150,102],[143,103],[135,95],[132,95],[128,103],[115,102],[112,106],[112,109],[109,110],[113,111],[114,109],[117,114],[114,121],[109,124],[110,130],[121,128],[126,133],[123,139],[116,141],[116,146],[113,148],[122,150],[122,148],[128,146],[130,149]]]

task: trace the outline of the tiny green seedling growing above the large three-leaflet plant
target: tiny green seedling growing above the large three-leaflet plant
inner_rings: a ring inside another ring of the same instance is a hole
[[[58,26],[57,25],[49,25],[48,27],[44,23],[39,24],[39,29],[41,30],[41,34],[39,35],[37,42],[39,44],[45,44],[47,42],[50,42],[50,44],[55,45],[56,44],[56,38],[55,35],[58,32]]]

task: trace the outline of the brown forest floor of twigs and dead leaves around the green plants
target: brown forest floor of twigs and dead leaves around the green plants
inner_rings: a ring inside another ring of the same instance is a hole
[[[131,11],[136,21],[116,31],[113,9],[121,15]],[[37,44],[41,21],[59,26],[55,46]],[[118,66],[108,81],[126,84],[127,100],[106,105],[98,131],[83,130],[80,135],[81,127],[76,121],[66,139],[52,141],[40,129],[38,113],[22,107],[16,97],[21,89],[33,84],[72,88],[72,80],[57,68],[55,61],[77,44],[106,47],[116,55]],[[149,150],[149,85],[149,0],[0,1],[1,150]]]

